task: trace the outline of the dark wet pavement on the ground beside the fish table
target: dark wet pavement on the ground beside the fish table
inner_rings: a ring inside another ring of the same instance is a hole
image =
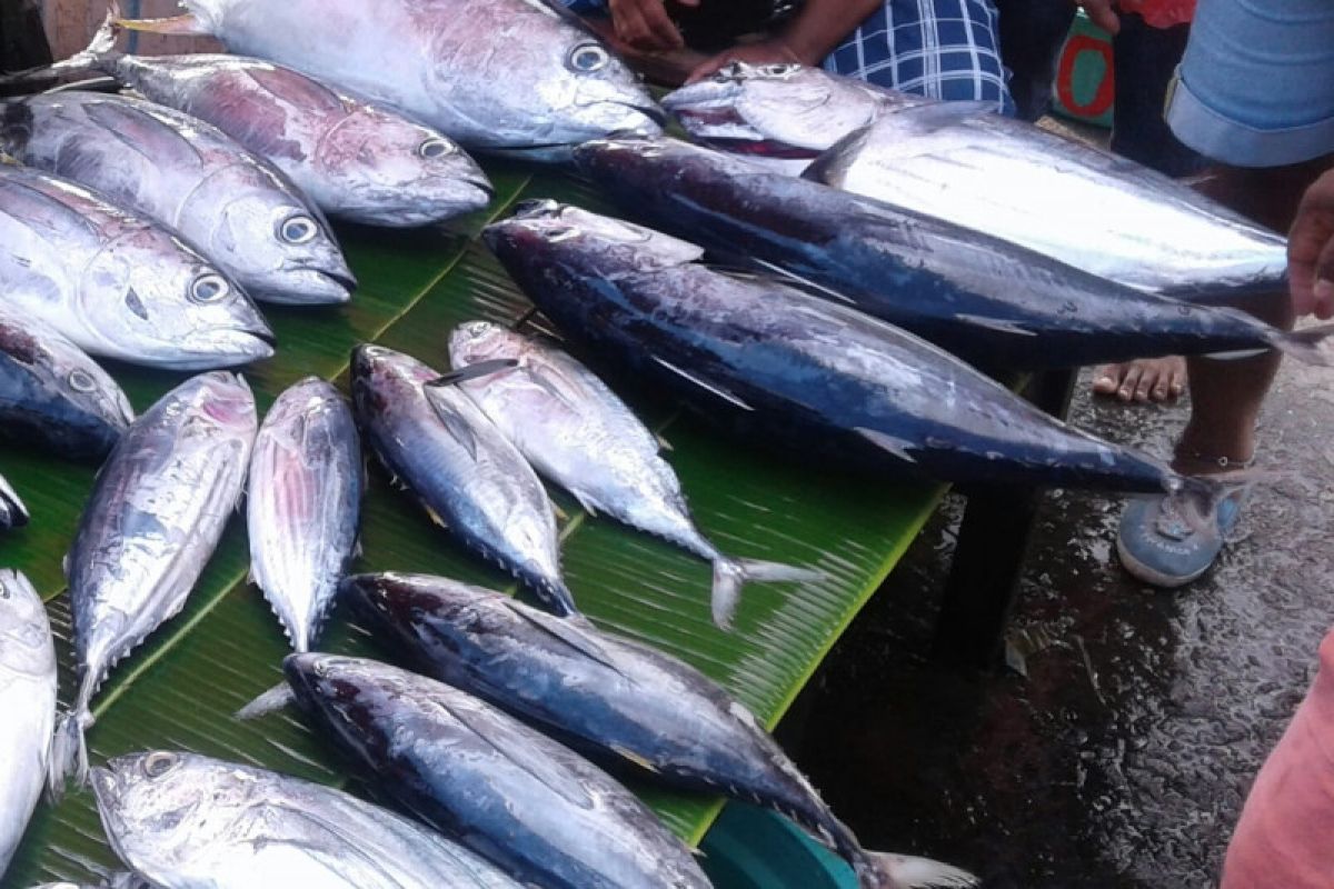
[[[1078,425],[1170,453],[1185,405],[1086,391],[1087,375]],[[1331,436],[1334,377],[1285,363],[1259,465],[1297,477],[1258,490],[1239,538],[1182,592],[1121,569],[1118,500],[1046,496],[1010,632],[1023,673],[928,661],[951,498],[794,713],[802,766],[868,848],[966,865],[987,886],[1215,885],[1334,625]]]

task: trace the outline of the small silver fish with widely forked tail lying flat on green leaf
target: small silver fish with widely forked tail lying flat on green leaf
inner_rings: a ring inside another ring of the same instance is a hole
[[[730,626],[746,581],[814,581],[816,570],[724,556],[695,526],[658,439],[602,380],[560,349],[490,321],[450,337],[455,371],[483,361],[514,368],[459,383],[472,403],[539,474],[588,510],[606,513],[680,546],[714,566],[712,613]],[[448,385],[455,385],[450,383]]]

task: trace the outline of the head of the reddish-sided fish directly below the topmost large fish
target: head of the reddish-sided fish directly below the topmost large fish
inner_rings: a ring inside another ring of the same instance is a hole
[[[426,225],[471,213],[494,193],[486,173],[458,144],[378,109],[364,108],[339,121],[320,139],[315,161],[342,184],[359,219],[387,225]]]

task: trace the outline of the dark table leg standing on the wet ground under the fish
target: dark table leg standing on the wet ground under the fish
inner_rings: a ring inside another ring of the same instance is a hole
[[[1075,371],[1034,375],[1023,395],[1047,413],[1065,417]],[[1033,488],[978,485],[968,498],[935,626],[938,662],[990,669],[1002,656],[1006,622],[1014,608],[1019,572],[1038,508]]]

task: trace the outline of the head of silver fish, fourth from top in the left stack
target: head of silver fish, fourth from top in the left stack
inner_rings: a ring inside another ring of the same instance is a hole
[[[151,355],[180,369],[273,355],[273,333],[240,285],[157,228],[131,228],[103,248],[80,280],[77,308],[109,355]]]

